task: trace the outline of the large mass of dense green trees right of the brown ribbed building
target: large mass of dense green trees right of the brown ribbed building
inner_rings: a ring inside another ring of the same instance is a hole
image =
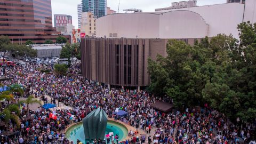
[[[175,107],[208,103],[231,119],[256,117],[256,24],[238,25],[233,36],[204,38],[194,46],[170,40],[167,57],[148,60],[149,91],[172,98]]]

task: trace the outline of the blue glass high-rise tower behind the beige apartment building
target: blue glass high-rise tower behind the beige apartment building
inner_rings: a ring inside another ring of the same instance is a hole
[[[107,0],[83,0],[83,12],[92,12],[95,18],[107,14]]]

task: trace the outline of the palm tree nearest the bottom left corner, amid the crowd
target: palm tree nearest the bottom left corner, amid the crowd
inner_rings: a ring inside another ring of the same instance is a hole
[[[14,114],[13,114],[14,113]],[[17,125],[17,127],[20,127],[20,109],[17,105],[10,105],[9,107],[5,108],[0,115],[4,117],[4,122],[9,125],[10,119]]]

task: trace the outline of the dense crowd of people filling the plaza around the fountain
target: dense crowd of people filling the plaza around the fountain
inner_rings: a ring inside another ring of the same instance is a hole
[[[21,84],[25,89],[24,97],[32,94],[44,103],[56,100],[71,109],[58,110],[21,110],[21,127],[11,122],[9,129],[14,132],[11,137],[1,135],[1,143],[76,143],[65,138],[65,129],[71,123],[82,121],[93,109],[101,107],[109,117],[119,119],[136,129],[145,131],[140,135],[130,131],[130,139],[119,143],[243,143],[255,135],[255,123],[233,124],[228,118],[209,107],[189,108],[185,112],[162,113],[151,107],[156,101],[171,102],[169,98],[155,97],[146,91],[111,89],[84,79],[81,63],[69,68],[66,76],[43,73],[51,66],[31,63],[27,67],[7,68],[5,73],[10,80],[4,85]],[[52,70],[53,71],[53,70]],[[3,74],[2,74],[3,75]],[[15,94],[18,99],[19,94]],[[49,95],[51,99],[47,99]],[[126,117],[114,114],[116,108],[128,113]],[[31,117],[29,117],[29,115]],[[57,119],[49,118],[54,114]],[[25,117],[26,116],[26,117]],[[81,143],[77,141],[77,143]],[[106,143],[108,140],[95,140],[94,143]]]

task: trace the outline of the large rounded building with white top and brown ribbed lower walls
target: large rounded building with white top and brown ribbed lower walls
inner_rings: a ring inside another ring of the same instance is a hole
[[[96,20],[97,38],[82,39],[82,74],[109,85],[147,86],[147,60],[166,57],[168,39],[193,45],[218,34],[238,38],[243,21],[256,22],[255,0],[106,15]]]

